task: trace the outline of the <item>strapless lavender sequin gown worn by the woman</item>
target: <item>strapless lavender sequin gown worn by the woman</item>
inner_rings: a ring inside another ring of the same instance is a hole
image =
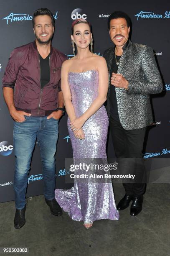
[[[79,117],[97,97],[99,74],[96,70],[82,73],[69,72],[68,81],[76,117]],[[70,125],[68,125],[68,130],[73,148],[74,164],[78,164],[79,159],[107,158],[108,117],[104,105],[84,124],[84,140],[75,138]],[[79,174],[79,170],[74,174]],[[93,181],[84,179],[84,182],[81,182],[80,179],[74,179],[74,187],[67,190],[56,189],[55,194],[59,205],[64,211],[69,212],[69,216],[73,220],[92,223],[100,219],[119,219],[111,182],[101,183],[99,179],[96,182],[94,179]]]

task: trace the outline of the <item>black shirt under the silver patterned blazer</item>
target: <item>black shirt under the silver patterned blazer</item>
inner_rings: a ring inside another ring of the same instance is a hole
[[[116,55],[117,62],[121,56]],[[112,72],[117,73],[118,65],[116,64],[115,54],[112,59],[112,65],[110,69],[110,79],[112,77]],[[117,121],[119,120],[118,108],[117,108],[117,98],[116,98],[116,90],[115,86],[110,84],[110,116]]]

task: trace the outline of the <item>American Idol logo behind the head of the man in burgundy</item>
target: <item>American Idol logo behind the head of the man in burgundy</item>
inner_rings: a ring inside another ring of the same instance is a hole
[[[55,20],[58,18],[58,11],[56,12],[54,16]],[[14,22],[14,21],[23,21],[23,20],[32,20],[33,16],[30,16],[29,14],[26,13],[10,13],[7,17],[3,18],[3,20],[7,20],[7,25],[8,22]]]

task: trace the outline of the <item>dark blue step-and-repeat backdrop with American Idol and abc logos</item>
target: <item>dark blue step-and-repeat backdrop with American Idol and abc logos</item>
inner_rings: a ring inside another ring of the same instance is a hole
[[[152,95],[155,123],[148,127],[145,159],[170,157],[170,3],[167,0],[143,1],[78,1],[78,0],[1,0],[0,1],[0,81],[15,47],[34,41],[32,28],[33,11],[48,8],[56,20],[53,46],[73,56],[71,47],[71,23],[76,18],[87,19],[93,28],[94,53],[102,56],[112,46],[107,29],[107,18],[115,10],[122,10],[132,19],[132,41],[151,46],[154,50],[164,90]],[[65,169],[65,158],[72,157],[72,148],[67,130],[67,116],[60,120],[59,139],[56,152],[56,187],[69,188],[65,183],[69,170]],[[114,157],[111,138],[108,139],[107,153]],[[167,162],[167,161],[166,161]],[[13,173],[13,119],[0,91],[0,202],[14,200]],[[162,165],[162,166],[161,166]],[[164,167],[164,162],[161,161]],[[156,168],[156,166],[155,166]],[[38,143],[35,145],[31,169],[28,175],[27,196],[43,194],[43,175]]]

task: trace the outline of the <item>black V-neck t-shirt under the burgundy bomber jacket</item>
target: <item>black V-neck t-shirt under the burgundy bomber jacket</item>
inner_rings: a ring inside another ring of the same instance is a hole
[[[41,68],[41,88],[48,84],[50,81],[50,54],[43,59],[40,55],[40,68]]]

